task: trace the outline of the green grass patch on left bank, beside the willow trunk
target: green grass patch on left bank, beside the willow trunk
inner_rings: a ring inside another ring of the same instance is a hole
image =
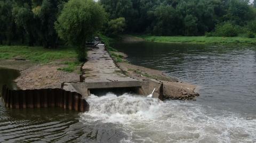
[[[29,60],[36,64],[47,64],[58,61],[66,65],[58,70],[73,72],[80,62],[76,60],[74,48],[63,47],[58,49],[45,49],[43,47],[4,46],[0,45],[0,60],[14,60],[15,58]]]

